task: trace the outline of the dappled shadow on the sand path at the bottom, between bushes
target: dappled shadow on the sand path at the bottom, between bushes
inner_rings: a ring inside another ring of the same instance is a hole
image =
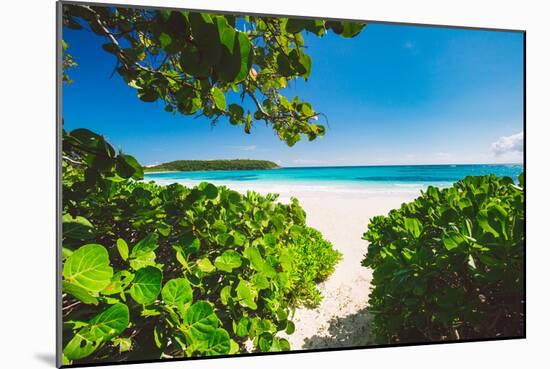
[[[370,336],[372,315],[367,308],[345,317],[334,317],[329,321],[328,335],[315,335],[304,340],[304,349],[325,349],[357,347],[374,344]]]

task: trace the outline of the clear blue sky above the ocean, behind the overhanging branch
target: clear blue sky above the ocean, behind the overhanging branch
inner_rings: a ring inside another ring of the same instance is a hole
[[[144,103],[114,74],[105,41],[64,30],[79,66],[63,87],[65,128],[99,132],[149,165],[251,158],[283,166],[521,162],[523,35],[371,24],[357,37],[307,36],[313,68],[298,95],[328,116],[325,137],[289,148],[270,127],[212,127]]]

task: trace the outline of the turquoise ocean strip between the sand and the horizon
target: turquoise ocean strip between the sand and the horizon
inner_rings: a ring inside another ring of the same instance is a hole
[[[354,189],[423,189],[430,185],[448,187],[466,176],[486,174],[508,176],[517,181],[522,171],[522,164],[283,167],[269,170],[146,173],[145,180],[153,180],[159,184],[179,182],[188,185],[207,181],[238,188],[286,185],[315,188],[336,186]]]

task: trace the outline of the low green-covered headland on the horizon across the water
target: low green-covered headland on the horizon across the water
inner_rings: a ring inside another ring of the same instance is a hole
[[[233,159],[233,160],[175,160],[168,163],[144,167],[145,172],[193,172],[204,170],[253,170],[275,169],[277,164],[268,160]]]

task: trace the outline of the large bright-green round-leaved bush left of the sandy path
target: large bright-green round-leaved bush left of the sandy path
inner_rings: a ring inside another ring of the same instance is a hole
[[[340,259],[295,199],[135,181],[83,129],[63,155],[64,363],[290,349],[278,332]]]

